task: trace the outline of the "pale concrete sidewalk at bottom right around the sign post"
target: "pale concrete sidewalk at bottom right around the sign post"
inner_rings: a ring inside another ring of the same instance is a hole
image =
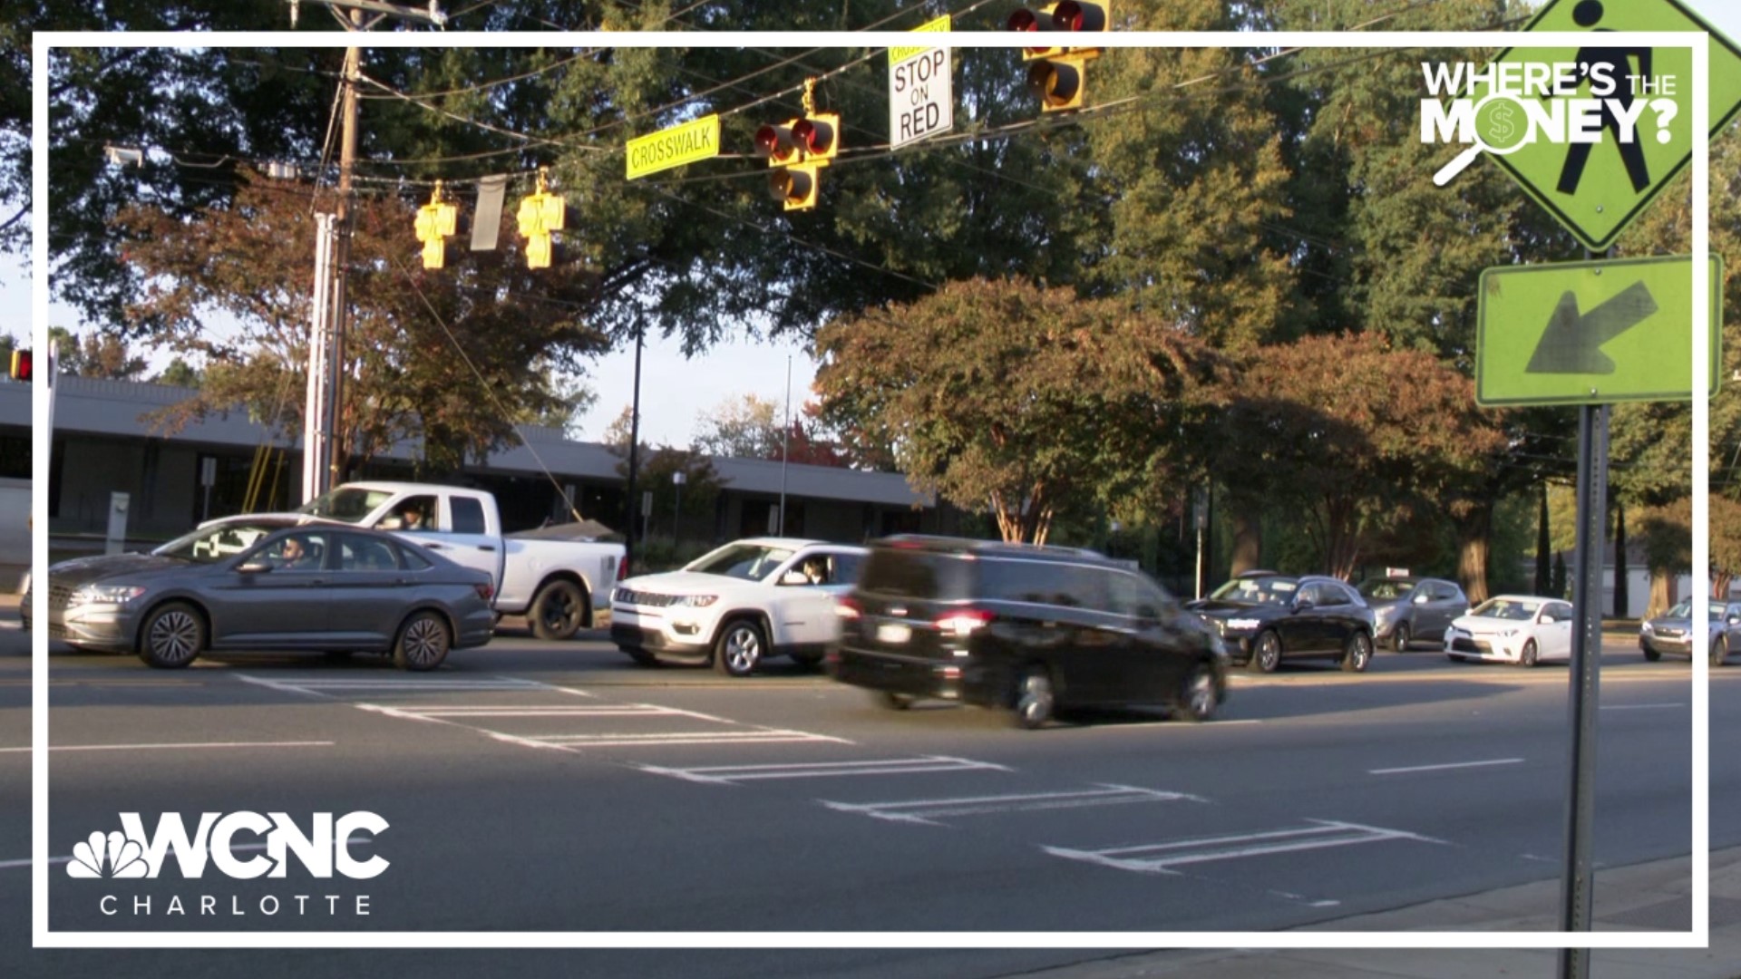
[[[1596,871],[1595,930],[1689,930],[1692,861],[1678,857]],[[1558,930],[1560,880],[1428,901],[1309,925],[1328,932]],[[1490,979],[1558,976],[1555,949],[1179,949],[1133,953],[1046,972],[1043,979]],[[1598,949],[1591,979],[1741,977],[1741,847],[1711,854],[1711,946]]]

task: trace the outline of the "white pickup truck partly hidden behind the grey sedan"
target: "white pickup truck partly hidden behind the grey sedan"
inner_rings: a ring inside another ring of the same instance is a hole
[[[496,498],[484,490],[428,483],[345,483],[296,510],[387,530],[467,568],[489,571],[496,611],[524,615],[533,636],[568,639],[609,608],[623,575],[622,544],[503,537]]]

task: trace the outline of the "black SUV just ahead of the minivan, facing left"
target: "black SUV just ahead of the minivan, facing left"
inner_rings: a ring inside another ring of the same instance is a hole
[[[1227,643],[1233,662],[1273,672],[1283,658],[1334,658],[1363,672],[1377,617],[1337,578],[1247,571],[1189,603]]]

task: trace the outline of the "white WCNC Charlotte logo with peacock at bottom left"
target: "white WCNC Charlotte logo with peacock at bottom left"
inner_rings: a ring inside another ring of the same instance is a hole
[[[77,880],[155,880],[165,864],[174,857],[176,869],[183,880],[198,880],[207,866],[232,880],[289,878],[291,862],[315,880],[333,880],[334,876],[350,880],[371,880],[390,866],[380,855],[359,857],[352,847],[373,843],[387,831],[387,820],[373,812],[350,812],[334,819],[331,812],[317,812],[308,819],[306,831],[284,812],[204,812],[193,833],[178,812],[160,814],[157,829],[145,831],[145,820],[136,812],[120,814],[120,831],[96,831],[87,840],[73,847],[73,859],[66,864],[66,876]],[[352,840],[353,834],[366,834],[366,840]],[[245,855],[239,855],[245,854]],[[301,876],[301,874],[298,874]],[[277,894],[249,897],[242,906],[240,895],[230,895],[228,908],[219,911],[216,895],[190,895],[197,901],[183,901],[172,894],[167,906],[153,906],[151,895],[132,897],[132,913],[150,916],[155,911],[164,915],[230,915],[242,916],[258,906],[261,915],[273,916],[289,911],[291,902],[298,916],[308,913],[313,901],[315,913],[324,904],[329,915],[338,915],[341,901],[346,908],[355,908],[357,915],[369,913],[369,897],[339,894],[291,894],[280,899]],[[115,894],[104,894],[99,902],[104,915],[125,911],[125,902]]]

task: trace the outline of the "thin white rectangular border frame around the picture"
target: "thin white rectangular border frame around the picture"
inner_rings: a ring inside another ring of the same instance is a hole
[[[1109,31],[1100,47],[1581,47],[1581,31]],[[345,33],[82,33],[38,31],[31,51],[31,343],[47,350],[49,329],[49,49],[52,47],[346,47]],[[367,47],[846,47],[911,45],[909,31],[790,33],[381,33]],[[1626,45],[1692,52],[1692,294],[1710,294],[1710,35],[1612,31]],[[954,31],[949,47],[1020,47],[1022,37]],[[1710,376],[1710,303],[1692,303],[1692,378]],[[47,418],[49,388],[33,385],[31,411]],[[1692,399],[1692,566],[1710,568],[1710,404]],[[49,453],[31,432],[31,566],[49,559]],[[1696,573],[1694,580],[1708,580]],[[1706,589],[1708,591],[1708,589]],[[47,589],[35,589],[35,622],[47,622]],[[1694,636],[1704,636],[1706,603],[1694,603]],[[1692,655],[1692,930],[1691,932],[50,932],[49,930],[49,639],[31,636],[31,942],[35,948],[1708,948],[1710,946],[1710,664]]]

